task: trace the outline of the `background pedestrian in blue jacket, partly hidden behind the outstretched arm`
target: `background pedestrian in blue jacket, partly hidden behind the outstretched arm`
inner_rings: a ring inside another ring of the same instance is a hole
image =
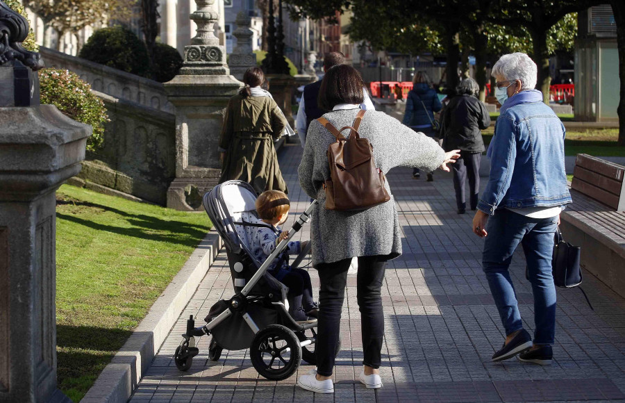
[[[437,133],[434,130],[434,113],[442,108],[436,91],[431,86],[431,81],[426,72],[417,72],[412,79],[412,90],[406,98],[406,113],[401,121],[414,131],[420,131],[424,135],[434,138]],[[434,180],[431,172],[428,172],[428,181]],[[412,170],[412,177],[417,179],[421,176],[419,168]]]

